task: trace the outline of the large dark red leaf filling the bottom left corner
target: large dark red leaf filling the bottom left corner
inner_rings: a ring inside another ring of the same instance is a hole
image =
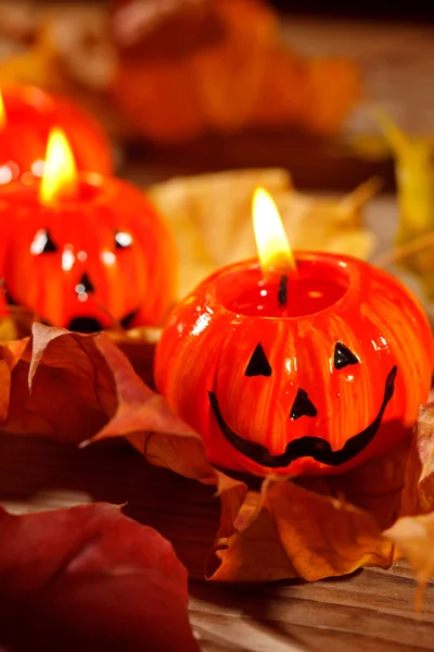
[[[0,644],[199,652],[187,572],[158,532],[100,503],[0,511]]]

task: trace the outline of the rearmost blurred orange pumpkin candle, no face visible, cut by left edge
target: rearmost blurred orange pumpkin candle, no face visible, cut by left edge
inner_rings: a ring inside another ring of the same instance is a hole
[[[26,172],[42,174],[40,161],[53,127],[66,134],[78,170],[113,172],[110,141],[97,121],[75,102],[31,86],[8,86],[1,96],[0,184]]]

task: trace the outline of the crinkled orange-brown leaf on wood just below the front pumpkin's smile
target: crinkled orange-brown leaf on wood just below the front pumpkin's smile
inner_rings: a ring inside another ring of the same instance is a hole
[[[247,493],[235,519],[225,518],[225,502],[224,496],[220,530],[207,564],[210,579],[314,581],[391,564],[392,544],[381,537],[373,516],[344,500],[277,481],[261,493]]]

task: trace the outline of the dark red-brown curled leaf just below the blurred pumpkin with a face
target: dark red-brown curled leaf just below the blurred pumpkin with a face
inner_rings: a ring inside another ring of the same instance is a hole
[[[77,443],[94,435],[116,409],[99,339],[115,348],[104,334],[85,336],[35,324],[12,373],[4,429]]]

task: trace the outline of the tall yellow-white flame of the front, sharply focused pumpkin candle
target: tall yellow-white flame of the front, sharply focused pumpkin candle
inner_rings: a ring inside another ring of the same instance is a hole
[[[257,188],[253,196],[253,228],[264,276],[294,271],[294,256],[278,208],[264,188]]]

